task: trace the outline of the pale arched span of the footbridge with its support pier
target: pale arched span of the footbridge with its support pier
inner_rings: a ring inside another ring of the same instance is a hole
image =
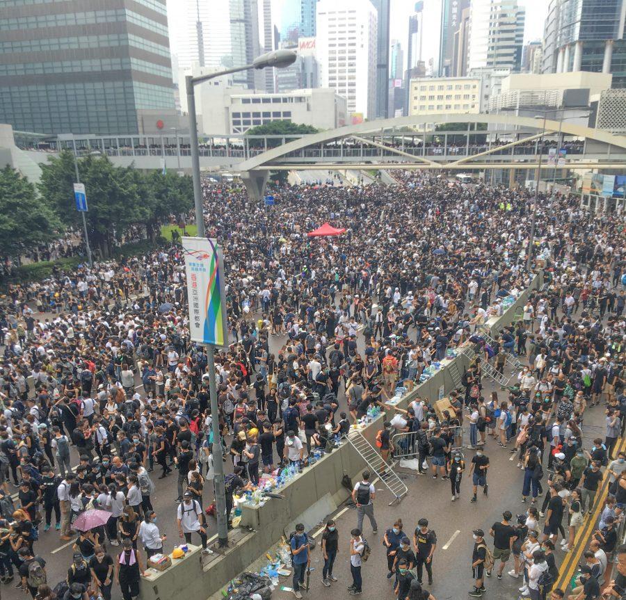
[[[435,124],[459,122],[467,124],[467,130],[435,129]],[[487,124],[488,129],[472,129],[472,124],[479,123]],[[499,135],[506,138],[513,136],[514,139],[502,143],[497,137]],[[449,139],[456,140],[459,136],[464,138],[464,143],[449,144]],[[471,143],[472,136],[474,140],[480,136],[483,142],[479,145]],[[551,138],[556,140],[552,147],[568,149],[564,143],[565,136],[582,138],[582,141],[572,145],[570,149],[573,152],[567,152],[567,158],[564,163],[559,163],[559,169],[626,168],[626,136],[563,121],[496,114],[442,114],[364,122],[303,136],[252,156],[238,166],[248,193],[259,198],[264,193],[268,172],[275,170],[536,170],[540,154],[547,152],[545,144]],[[440,143],[429,143],[428,140],[433,138],[439,138]],[[346,146],[345,140],[353,140],[360,146]],[[410,140],[410,144],[406,144],[406,140]],[[339,147],[329,150],[329,143],[339,144]],[[364,153],[366,147],[371,149],[368,154]],[[362,160],[349,161],[350,156]],[[366,156],[369,160],[364,161]],[[329,158],[332,160],[325,160]],[[314,162],[307,161],[310,159]],[[540,168],[554,169],[554,166],[545,156]]]

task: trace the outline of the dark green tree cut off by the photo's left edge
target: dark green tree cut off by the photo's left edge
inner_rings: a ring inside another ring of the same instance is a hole
[[[6,166],[0,171],[0,255],[19,257],[58,233],[60,222],[30,181]]]

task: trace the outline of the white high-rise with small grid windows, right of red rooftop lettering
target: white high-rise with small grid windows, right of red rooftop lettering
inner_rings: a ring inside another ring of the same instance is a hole
[[[353,120],[376,114],[377,15],[369,0],[319,0],[316,47],[320,85],[348,102]]]

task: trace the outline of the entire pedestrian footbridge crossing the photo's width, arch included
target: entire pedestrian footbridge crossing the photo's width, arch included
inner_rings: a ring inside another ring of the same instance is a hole
[[[0,126],[7,127],[7,126]],[[42,136],[14,132],[15,150],[38,164],[63,149],[109,156],[116,165],[190,172],[189,138]],[[3,136],[6,142],[6,136]],[[13,152],[16,154],[16,152]],[[626,136],[565,121],[509,115],[396,117],[305,136],[203,136],[200,168],[241,174],[255,197],[276,170],[594,170],[626,167]],[[323,179],[323,173],[322,179]]]

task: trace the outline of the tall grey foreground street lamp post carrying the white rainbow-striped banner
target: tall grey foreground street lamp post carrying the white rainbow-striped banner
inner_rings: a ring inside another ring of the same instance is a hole
[[[250,69],[265,69],[266,67],[288,67],[296,60],[296,53],[291,50],[276,50],[262,54],[251,65],[235,67],[209,75],[185,78],[187,92],[187,110],[189,113],[189,140],[191,143],[191,175],[193,178],[193,204],[195,206],[195,222],[198,227],[198,237],[204,238],[204,216],[202,213],[202,182],[200,181],[200,154],[198,152],[198,121],[195,117],[196,83],[209,81],[216,77],[248,71]],[[207,344],[207,366],[209,368],[209,395],[211,398],[211,426],[213,428],[213,465],[214,465],[214,494],[216,502],[216,516],[218,525],[218,543],[220,546],[228,544],[228,523],[226,519],[226,492],[224,487],[224,467],[222,462],[222,445],[220,444],[220,428],[218,420],[218,401],[215,381],[214,346]]]

